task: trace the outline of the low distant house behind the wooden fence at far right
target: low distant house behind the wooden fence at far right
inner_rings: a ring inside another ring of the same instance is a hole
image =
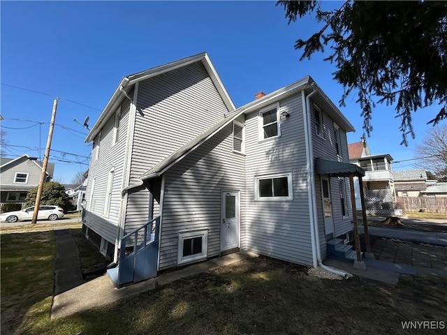
[[[393,171],[398,197],[419,197],[427,189],[427,172],[422,169]]]

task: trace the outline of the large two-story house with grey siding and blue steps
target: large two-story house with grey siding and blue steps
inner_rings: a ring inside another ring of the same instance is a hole
[[[311,77],[235,110],[205,53],[129,75],[86,140],[83,229],[118,283],[239,250],[316,267],[353,229],[349,131]]]

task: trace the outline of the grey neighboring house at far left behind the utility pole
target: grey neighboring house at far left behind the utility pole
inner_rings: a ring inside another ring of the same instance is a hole
[[[42,162],[24,154],[17,158],[1,158],[0,202],[23,203],[28,192],[38,186],[42,174]],[[51,181],[54,163],[47,163],[46,181]]]

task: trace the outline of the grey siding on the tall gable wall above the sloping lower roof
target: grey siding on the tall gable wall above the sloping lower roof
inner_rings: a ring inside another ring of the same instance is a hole
[[[137,107],[130,184],[228,113],[201,62],[140,82]],[[149,191],[129,194],[126,231],[147,221],[148,204]]]

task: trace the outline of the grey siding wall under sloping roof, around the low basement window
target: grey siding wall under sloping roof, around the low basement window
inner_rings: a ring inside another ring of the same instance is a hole
[[[243,155],[233,154],[233,128],[221,132],[166,172],[161,223],[160,269],[178,262],[178,233],[207,230],[207,256],[221,252],[221,191],[245,196]],[[240,204],[240,225],[244,204]],[[241,230],[242,240],[244,232]]]

